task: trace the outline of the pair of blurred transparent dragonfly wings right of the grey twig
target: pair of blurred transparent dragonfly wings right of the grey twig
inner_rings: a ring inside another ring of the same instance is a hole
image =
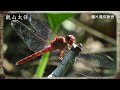
[[[87,50],[87,53],[80,52],[76,61],[79,63],[79,70],[82,70],[80,73],[83,75],[105,76],[115,74],[115,61],[108,55],[88,52]]]

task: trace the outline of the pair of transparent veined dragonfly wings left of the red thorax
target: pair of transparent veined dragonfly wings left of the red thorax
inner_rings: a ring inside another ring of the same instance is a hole
[[[30,50],[37,52],[48,46],[49,41],[54,39],[55,34],[52,33],[48,24],[39,14],[28,14],[28,18],[33,29],[18,20],[13,20],[11,25],[16,33],[28,45]]]

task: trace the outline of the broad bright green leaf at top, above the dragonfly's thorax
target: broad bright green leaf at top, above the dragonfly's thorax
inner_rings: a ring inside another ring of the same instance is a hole
[[[47,18],[48,18],[48,22],[51,26],[51,28],[53,29],[54,32],[57,32],[59,26],[61,25],[61,23],[63,21],[65,21],[66,19],[74,16],[75,14],[72,13],[64,13],[64,14],[46,14]]]

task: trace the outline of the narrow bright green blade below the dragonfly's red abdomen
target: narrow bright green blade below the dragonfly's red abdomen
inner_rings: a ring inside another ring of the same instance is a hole
[[[36,78],[41,78],[44,74],[45,68],[47,66],[47,62],[48,62],[48,58],[49,58],[49,52],[47,52],[46,54],[44,54],[40,60],[40,63],[37,67],[37,71],[35,74]]]

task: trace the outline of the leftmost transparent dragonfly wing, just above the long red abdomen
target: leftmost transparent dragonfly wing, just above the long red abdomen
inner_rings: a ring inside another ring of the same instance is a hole
[[[30,29],[28,26],[23,24],[18,20],[12,20],[11,26],[16,31],[16,33],[21,37],[21,39],[28,45],[30,50],[37,52],[48,45],[47,41],[42,40],[42,38],[35,32]]]

